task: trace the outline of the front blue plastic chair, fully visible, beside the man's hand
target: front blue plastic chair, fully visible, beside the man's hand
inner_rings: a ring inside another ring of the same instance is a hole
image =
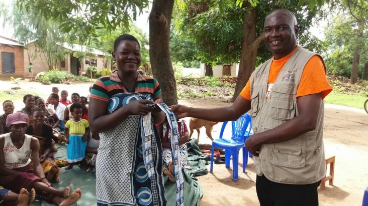
[[[233,156],[233,179],[238,180],[238,164],[239,151],[243,149],[243,172],[248,164],[248,150],[245,148],[245,141],[249,136],[252,128],[252,118],[249,114],[243,114],[236,121],[231,121],[232,135],[231,139],[222,138],[227,122],[224,122],[221,127],[220,138],[212,141],[211,147],[211,168],[213,171],[213,153],[215,147],[225,149],[225,166],[230,167],[230,157]]]

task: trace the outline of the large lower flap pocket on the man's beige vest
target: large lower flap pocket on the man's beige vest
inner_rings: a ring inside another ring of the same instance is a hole
[[[301,168],[305,166],[305,140],[292,139],[275,143],[270,148],[270,161],[274,165]]]

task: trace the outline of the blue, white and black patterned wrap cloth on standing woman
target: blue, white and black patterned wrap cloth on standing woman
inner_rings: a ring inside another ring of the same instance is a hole
[[[150,99],[150,95],[144,93],[114,95],[109,100],[108,112],[114,112],[140,99]],[[148,177],[143,159],[140,118],[139,115],[130,115],[113,129],[100,133],[100,147],[96,161],[98,205],[166,205],[162,179],[161,140],[153,126],[154,133],[150,143],[154,173]]]

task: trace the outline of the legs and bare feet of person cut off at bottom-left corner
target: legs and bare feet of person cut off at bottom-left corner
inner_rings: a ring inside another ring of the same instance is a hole
[[[22,188],[19,194],[0,186],[0,204],[4,202],[5,205],[26,206],[35,200],[35,189],[28,191]]]

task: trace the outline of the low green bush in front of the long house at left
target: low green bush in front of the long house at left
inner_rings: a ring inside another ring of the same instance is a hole
[[[71,81],[80,81],[80,82],[89,82],[89,79],[84,76],[75,76],[66,71],[61,70],[50,70],[45,72],[42,76],[36,79],[37,82],[41,83],[64,83],[67,80]]]

